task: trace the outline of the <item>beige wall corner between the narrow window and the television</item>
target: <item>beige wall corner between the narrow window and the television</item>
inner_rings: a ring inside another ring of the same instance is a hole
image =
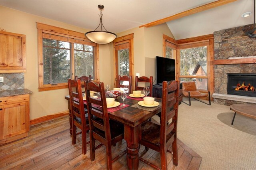
[[[136,27],[121,32],[117,36],[121,37],[132,33],[134,33],[134,75],[136,73],[140,73],[140,76],[147,77],[152,75],[153,79],[155,79],[155,57],[156,55],[162,56],[163,34],[171,38],[174,38],[174,36],[165,23],[150,28]],[[111,57],[113,57],[113,54]],[[133,81],[135,81],[135,77]]]

